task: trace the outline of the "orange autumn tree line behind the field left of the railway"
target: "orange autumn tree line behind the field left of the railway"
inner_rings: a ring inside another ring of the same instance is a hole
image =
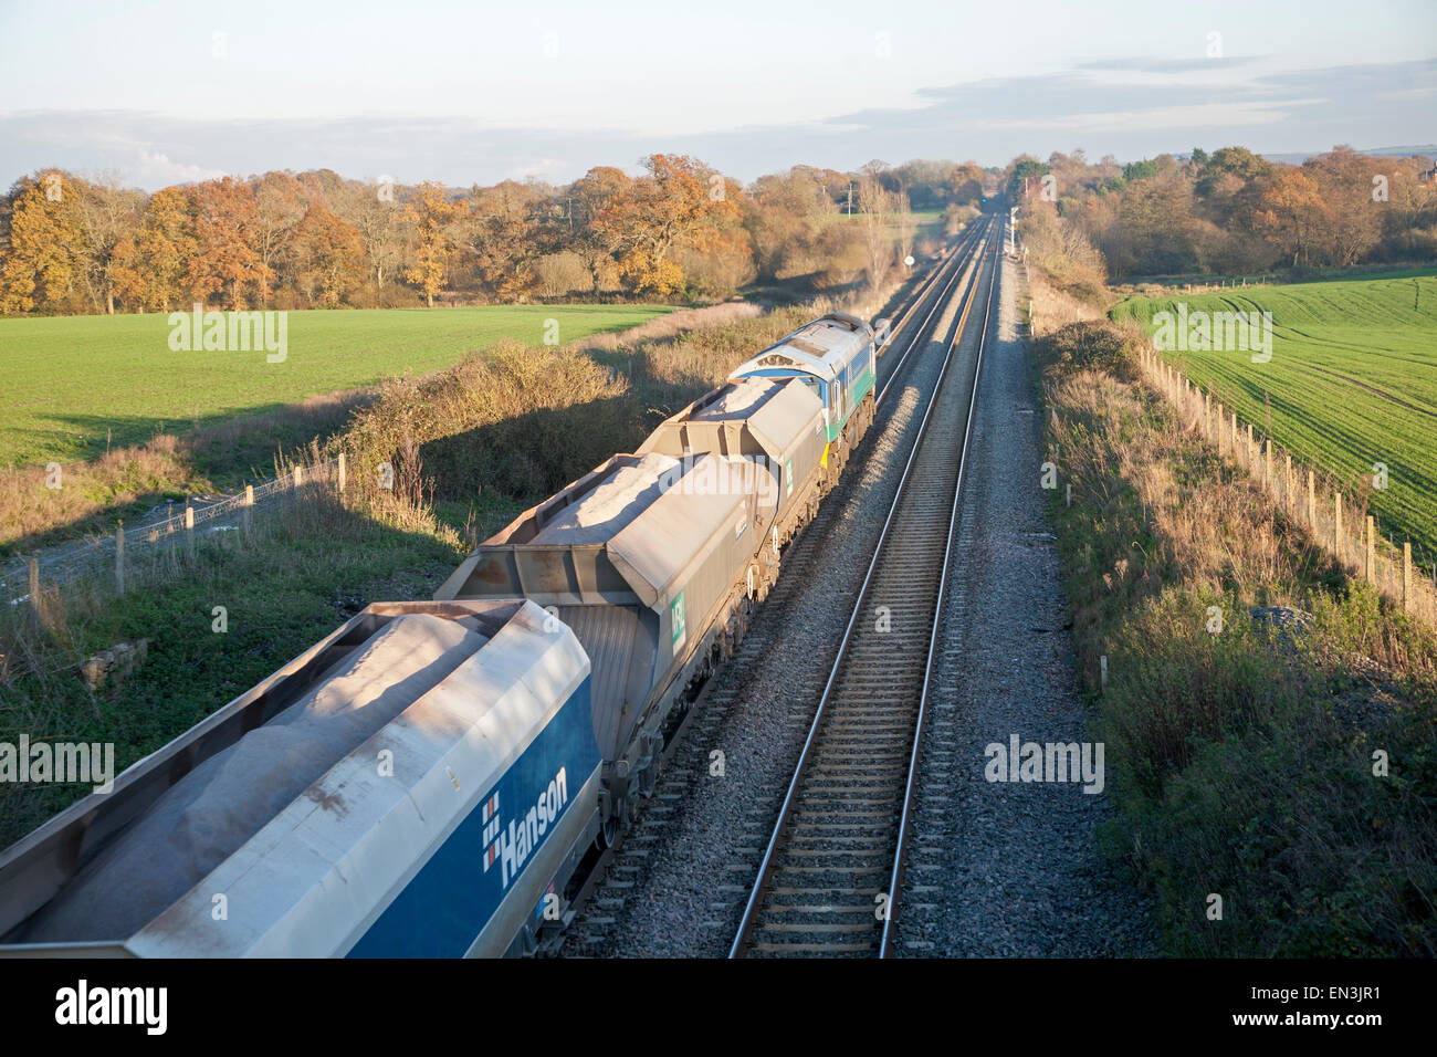
[[[951,230],[981,197],[974,163],[796,165],[743,187],[687,155],[638,175],[468,190],[272,171],[165,187],[63,170],[0,200],[0,312],[167,312],[563,299],[721,299],[750,283],[882,282],[914,250],[914,210]],[[996,170],[993,170],[996,173]],[[992,178],[992,177],[990,177]]]

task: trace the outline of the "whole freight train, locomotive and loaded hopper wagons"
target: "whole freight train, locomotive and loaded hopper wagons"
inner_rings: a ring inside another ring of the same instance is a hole
[[[0,955],[494,956],[582,864],[874,418],[831,312],[0,854]]]

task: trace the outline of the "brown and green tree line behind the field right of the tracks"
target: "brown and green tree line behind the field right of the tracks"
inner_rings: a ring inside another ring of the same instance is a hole
[[[1437,257],[1431,158],[1375,158],[1335,147],[1300,165],[1243,147],[1127,165],[1083,152],[1007,170],[1026,236],[1043,244],[1059,282],[1111,275],[1253,273]]]

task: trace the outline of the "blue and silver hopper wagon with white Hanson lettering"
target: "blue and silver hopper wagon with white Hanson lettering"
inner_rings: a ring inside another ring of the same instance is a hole
[[[599,764],[537,605],[374,604],[0,856],[0,955],[532,952]]]

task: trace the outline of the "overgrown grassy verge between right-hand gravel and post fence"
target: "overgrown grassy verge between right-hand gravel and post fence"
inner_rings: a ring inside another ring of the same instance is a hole
[[[1431,956],[1437,636],[1184,431],[1128,341],[1099,321],[1035,345],[1111,851],[1174,955]]]

